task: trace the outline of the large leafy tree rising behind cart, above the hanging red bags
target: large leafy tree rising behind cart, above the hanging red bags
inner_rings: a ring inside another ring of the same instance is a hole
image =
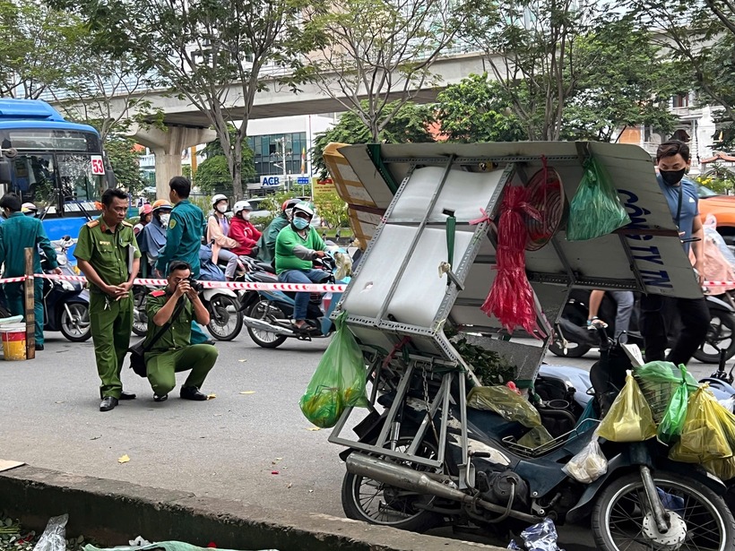
[[[677,67],[647,31],[607,10],[594,0],[499,0],[468,22],[526,139],[610,141],[626,125],[672,125]]]

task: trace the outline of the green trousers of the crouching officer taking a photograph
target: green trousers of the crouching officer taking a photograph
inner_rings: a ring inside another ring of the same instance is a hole
[[[202,387],[204,379],[217,361],[218,352],[210,344],[192,344],[177,350],[146,354],[145,366],[153,392],[168,394],[176,386],[176,374],[191,369],[184,386]]]

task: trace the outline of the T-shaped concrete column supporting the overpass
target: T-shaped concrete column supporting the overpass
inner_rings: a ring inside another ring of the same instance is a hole
[[[181,176],[181,152],[200,143],[212,142],[217,137],[217,133],[208,128],[186,126],[167,126],[161,131],[133,125],[129,134],[156,156],[156,196],[159,199],[169,198],[169,180]]]

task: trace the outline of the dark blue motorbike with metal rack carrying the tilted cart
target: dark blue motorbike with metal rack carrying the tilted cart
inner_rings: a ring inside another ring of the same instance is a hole
[[[655,440],[603,441],[607,472],[580,484],[561,468],[597,439],[596,420],[527,447],[520,423],[467,408],[466,378],[444,360],[370,350],[366,357],[372,400],[383,410],[370,409],[355,426],[357,442],[341,436],[349,414],[330,436],[348,447],[342,505],[351,519],[417,531],[449,524],[517,532],[550,518],[591,526],[603,551],[732,548],[727,487],[698,465],[668,460]]]

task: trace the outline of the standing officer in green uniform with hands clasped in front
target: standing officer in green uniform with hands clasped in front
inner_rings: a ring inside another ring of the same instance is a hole
[[[127,194],[108,189],[102,194],[102,215],[87,222],[74,249],[77,265],[90,282],[90,322],[97,372],[102,384],[100,411],[133,400],[123,392],[120,371],[133,330],[133,280],[138,273],[138,251],[133,225],[125,222]]]

